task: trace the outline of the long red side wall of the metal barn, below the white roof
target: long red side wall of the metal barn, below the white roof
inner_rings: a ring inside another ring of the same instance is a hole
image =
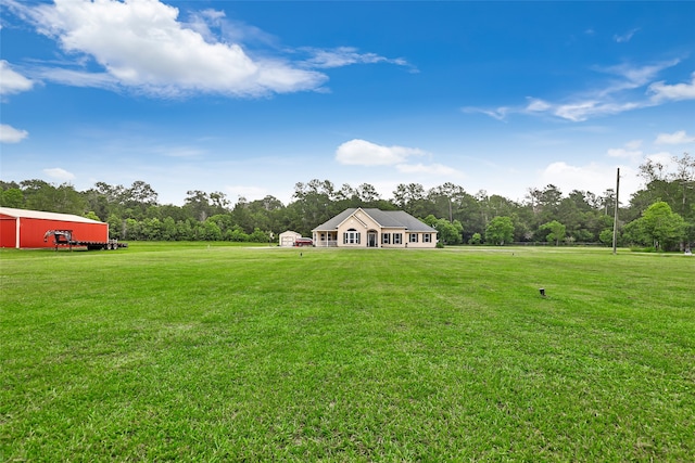
[[[20,219],[20,247],[53,247],[53,237],[43,242],[43,235],[49,230],[72,230],[73,240],[97,241],[105,243],[109,241],[108,223],[83,223],[64,220],[46,219]]]

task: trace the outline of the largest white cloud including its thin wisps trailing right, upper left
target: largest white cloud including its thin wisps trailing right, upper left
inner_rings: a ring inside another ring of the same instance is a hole
[[[197,92],[255,98],[326,91],[323,86],[328,76],[316,70],[323,68],[389,63],[417,72],[404,59],[362,53],[351,47],[305,48],[300,51],[311,53],[312,57],[296,63],[253,56],[243,43],[278,49],[277,40],[211,9],[192,13],[185,23],[179,20],[177,8],[160,0],[55,0],[54,4],[39,5],[7,0],[7,3],[74,59],[73,68],[34,70],[37,77],[64,85],[125,88],[162,98]],[[101,70],[87,69],[94,63]]]

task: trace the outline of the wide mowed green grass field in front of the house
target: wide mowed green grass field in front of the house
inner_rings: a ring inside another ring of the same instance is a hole
[[[695,460],[693,257],[130,243],[0,290],[4,461]]]

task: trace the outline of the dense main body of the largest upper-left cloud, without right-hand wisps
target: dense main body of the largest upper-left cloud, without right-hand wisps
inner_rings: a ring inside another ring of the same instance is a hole
[[[122,86],[162,97],[190,92],[257,97],[315,90],[327,80],[321,73],[280,60],[254,60],[237,43],[206,41],[178,21],[178,9],[159,0],[9,3],[63,50],[87,55],[105,69],[96,79],[86,70],[43,72],[63,82]]]

